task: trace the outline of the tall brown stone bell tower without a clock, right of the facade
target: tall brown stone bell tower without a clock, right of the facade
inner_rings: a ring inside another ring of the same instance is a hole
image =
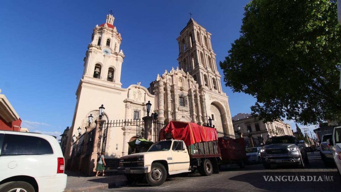
[[[179,45],[179,68],[194,78],[204,90],[222,93],[217,70],[216,54],[212,50],[211,33],[193,18],[177,38]]]

